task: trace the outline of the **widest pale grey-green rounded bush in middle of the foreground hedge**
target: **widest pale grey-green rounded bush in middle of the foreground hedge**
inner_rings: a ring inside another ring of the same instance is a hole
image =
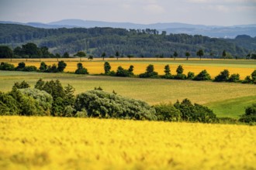
[[[145,102],[102,90],[78,94],[74,108],[78,111],[86,110],[88,117],[157,120],[154,109]]]

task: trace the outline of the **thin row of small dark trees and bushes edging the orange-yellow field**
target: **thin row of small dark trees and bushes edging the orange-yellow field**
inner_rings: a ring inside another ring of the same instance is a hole
[[[0,70],[9,70],[9,71],[38,71],[43,73],[60,73],[64,72],[67,63],[64,61],[59,61],[52,66],[47,66],[46,63],[41,62],[40,68],[37,69],[36,66],[26,66],[26,63],[21,62],[18,63],[18,66],[14,66],[11,63],[0,64]],[[140,73],[139,75],[134,75],[133,73],[134,66],[131,65],[128,70],[123,69],[122,66],[118,66],[116,72],[111,70],[111,66],[109,62],[104,63],[104,71],[105,73],[101,73],[106,76],[133,76],[140,78],[162,78],[162,79],[174,79],[174,80],[213,80],[214,82],[234,82],[234,83],[256,83],[256,70],[254,70],[250,76],[246,76],[244,80],[240,80],[240,75],[238,73],[234,73],[230,75],[229,70],[223,70],[217,75],[214,79],[207,73],[206,70],[202,70],[199,74],[195,75],[195,73],[190,72],[185,75],[184,69],[182,65],[179,65],[176,69],[176,74],[171,73],[171,69],[169,65],[164,66],[164,75],[158,75],[157,72],[154,71],[154,65],[150,64],[147,66],[145,73]],[[74,71],[75,74],[89,74],[88,70],[82,65],[82,63],[77,64],[77,70]]]

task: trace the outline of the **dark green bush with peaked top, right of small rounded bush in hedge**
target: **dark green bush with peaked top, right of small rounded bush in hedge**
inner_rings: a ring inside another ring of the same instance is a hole
[[[203,123],[216,121],[216,114],[213,114],[213,110],[210,110],[208,107],[204,107],[200,104],[192,104],[189,99],[182,100],[182,103],[177,100],[174,106],[176,109],[181,111],[181,118],[183,121]]]

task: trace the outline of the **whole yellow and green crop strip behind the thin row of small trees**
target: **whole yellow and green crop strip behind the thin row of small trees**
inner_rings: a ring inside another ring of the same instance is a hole
[[[65,69],[66,72],[74,72],[77,69],[77,63],[79,59],[59,59],[64,60],[67,63],[67,68]],[[10,60],[1,60],[10,62]],[[40,66],[40,61],[45,61],[47,65],[57,64],[57,59],[29,59],[26,62],[26,59],[12,59],[12,63],[16,66],[19,62],[24,61],[27,66]],[[239,73],[240,79],[244,79],[245,76],[250,75],[256,69],[256,62],[254,60],[234,60],[234,59],[189,59],[188,61],[185,59],[124,59],[121,58],[119,60],[116,59],[106,59],[110,65],[112,66],[112,70],[117,69],[118,66],[123,66],[123,68],[128,69],[130,65],[134,66],[134,73],[140,74],[144,73],[147,66],[149,64],[154,65],[155,71],[159,74],[164,74],[164,66],[169,64],[171,67],[171,73],[176,74],[176,69],[178,65],[182,65],[184,68],[184,73],[187,74],[189,71],[198,74],[202,70],[207,70],[207,72],[214,78],[217,76],[220,71],[225,69],[232,73]],[[81,59],[81,63],[83,66],[88,69],[88,72],[91,74],[99,74],[104,73],[103,64],[104,61],[102,59],[93,59],[89,61],[88,59],[84,58]]]

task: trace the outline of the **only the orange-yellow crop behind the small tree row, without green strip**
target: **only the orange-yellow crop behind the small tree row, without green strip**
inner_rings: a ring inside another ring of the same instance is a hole
[[[47,65],[57,64],[57,59],[42,59],[45,60],[45,63]],[[61,59],[59,59],[61,60]],[[190,59],[193,61],[193,59]],[[195,60],[195,59],[194,59]],[[210,61],[209,59],[205,59],[206,61]],[[36,66],[39,68],[40,61],[39,59],[29,59],[28,62],[26,62],[26,59],[14,59],[12,60],[12,63],[14,63],[16,66],[19,62],[25,61],[27,66]],[[77,63],[79,62],[79,59],[64,59],[65,63],[67,63],[67,67],[64,70],[65,72],[74,72],[77,69]],[[112,70],[116,71],[118,66],[123,66],[124,69],[128,69],[130,65],[134,66],[133,73],[140,74],[144,73],[147,66],[151,63],[154,65],[154,69],[157,73],[160,75],[164,74],[164,66],[168,64],[170,59],[133,59],[132,61],[128,59],[119,59],[118,61],[116,59],[107,59],[107,61],[112,66]],[[184,59],[178,59],[178,61],[184,61]],[[221,60],[220,60],[221,61]],[[88,69],[88,72],[91,74],[99,74],[104,73],[104,61],[102,59],[93,59],[92,61],[89,61],[88,59],[82,59],[83,66],[85,66]],[[256,63],[255,63],[256,64]],[[178,67],[179,63],[170,64],[171,67],[171,74],[176,74],[176,69]],[[202,70],[207,70],[207,72],[214,78],[217,76],[221,71],[227,69],[230,71],[230,74],[233,73],[239,73],[240,79],[244,80],[245,76],[251,75],[251,73],[256,69],[251,67],[238,67],[236,65],[232,66],[214,66],[214,64],[211,65],[191,65],[191,63],[182,64],[184,68],[184,73],[187,74],[189,71],[194,72],[195,74],[198,74]]]

